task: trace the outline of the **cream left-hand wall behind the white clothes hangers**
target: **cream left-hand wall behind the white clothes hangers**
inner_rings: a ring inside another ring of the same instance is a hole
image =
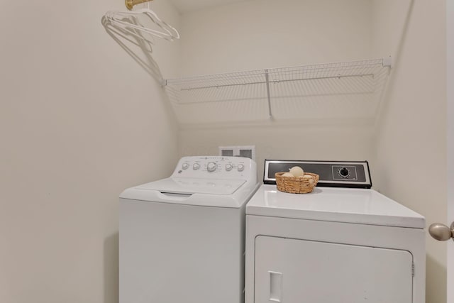
[[[174,116],[101,25],[122,1],[1,4],[0,302],[118,302],[118,194],[170,174]]]

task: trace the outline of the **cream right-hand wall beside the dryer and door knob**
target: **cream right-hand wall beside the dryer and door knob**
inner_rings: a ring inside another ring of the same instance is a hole
[[[374,1],[374,31],[375,49],[392,48],[395,58],[377,124],[375,185],[427,226],[445,222],[445,1]],[[427,233],[427,302],[446,302],[445,245]]]

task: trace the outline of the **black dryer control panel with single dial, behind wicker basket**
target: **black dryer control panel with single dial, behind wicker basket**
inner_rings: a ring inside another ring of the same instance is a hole
[[[306,161],[306,160],[265,160],[265,184],[276,184],[276,172],[288,172],[294,166],[304,172],[319,175],[317,186],[370,188],[369,163],[367,161]]]

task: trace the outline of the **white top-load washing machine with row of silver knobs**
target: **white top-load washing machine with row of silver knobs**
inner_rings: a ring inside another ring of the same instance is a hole
[[[184,157],[172,176],[120,196],[120,303],[244,301],[253,160]]]

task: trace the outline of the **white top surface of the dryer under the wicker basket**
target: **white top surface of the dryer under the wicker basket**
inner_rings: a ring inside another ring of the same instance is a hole
[[[262,185],[246,214],[411,228],[426,224],[420,214],[373,189],[316,187],[309,194],[288,194]]]

